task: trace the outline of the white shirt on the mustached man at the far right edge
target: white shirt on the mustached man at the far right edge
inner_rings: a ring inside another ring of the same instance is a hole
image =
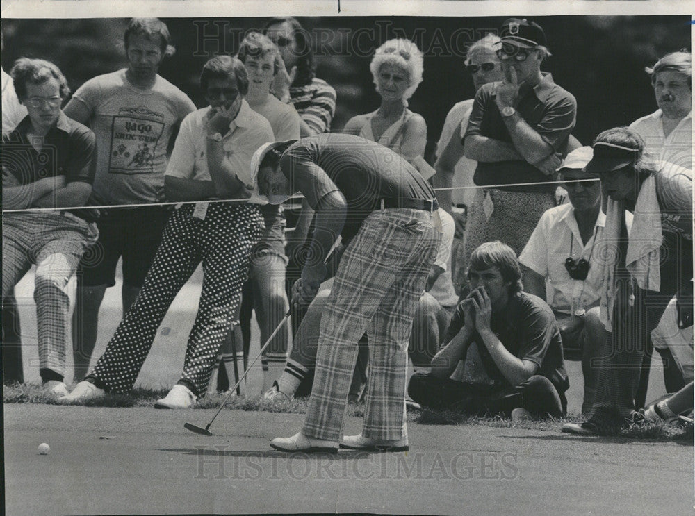
[[[692,169],[692,113],[688,113],[671,134],[664,136],[664,113],[657,109],[630,124],[644,140],[644,151],[655,161],[666,161]]]

